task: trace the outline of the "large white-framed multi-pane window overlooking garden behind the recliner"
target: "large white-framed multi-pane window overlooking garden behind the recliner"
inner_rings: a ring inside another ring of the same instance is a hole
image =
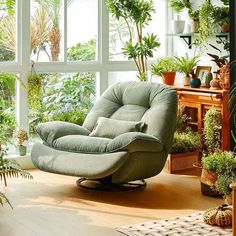
[[[162,55],[166,2],[154,2],[157,15],[149,27],[160,37],[162,47],[156,53]],[[111,18],[109,22],[103,0],[0,3],[0,127],[7,124],[5,133],[11,137],[15,126],[33,134],[39,122],[81,124],[108,86],[137,80],[135,64],[121,53],[126,35],[124,22]],[[15,75],[29,87],[32,77],[42,84],[27,96],[27,90],[15,83]],[[11,77],[15,80],[9,80],[14,84],[10,88],[2,78]]]

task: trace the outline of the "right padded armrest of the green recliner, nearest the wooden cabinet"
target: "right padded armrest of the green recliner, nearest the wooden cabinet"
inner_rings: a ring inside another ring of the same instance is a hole
[[[128,132],[114,138],[107,146],[108,152],[161,152],[163,144],[156,137],[140,132]]]

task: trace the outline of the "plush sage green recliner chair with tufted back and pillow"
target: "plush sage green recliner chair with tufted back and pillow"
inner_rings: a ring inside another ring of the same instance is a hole
[[[176,113],[174,89],[149,82],[117,83],[97,100],[82,126],[62,121],[37,125],[43,143],[34,144],[32,161],[47,172],[81,177],[79,184],[144,180],[165,165]]]

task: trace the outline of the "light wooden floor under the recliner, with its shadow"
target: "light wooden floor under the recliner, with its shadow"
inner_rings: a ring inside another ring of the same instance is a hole
[[[162,172],[144,190],[94,192],[76,178],[32,170],[33,180],[1,188],[14,209],[0,207],[1,236],[118,236],[116,227],[185,215],[222,202],[202,196],[197,176]]]

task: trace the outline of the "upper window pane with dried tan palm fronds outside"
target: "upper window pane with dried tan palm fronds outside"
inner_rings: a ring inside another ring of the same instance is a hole
[[[63,60],[63,0],[31,0],[31,60]]]

